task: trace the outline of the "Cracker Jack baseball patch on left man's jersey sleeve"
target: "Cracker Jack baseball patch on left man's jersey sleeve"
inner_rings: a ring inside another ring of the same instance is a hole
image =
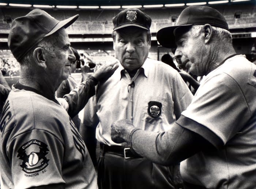
[[[49,159],[47,145],[37,139],[32,139],[23,144],[18,150],[19,159],[22,160],[22,170],[25,173],[37,173],[48,166]]]

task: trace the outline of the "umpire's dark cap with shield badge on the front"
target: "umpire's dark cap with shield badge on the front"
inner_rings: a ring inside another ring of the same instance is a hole
[[[119,12],[113,18],[114,30],[128,26],[137,26],[145,30],[149,30],[151,26],[151,18],[140,9],[137,8],[127,8]]]

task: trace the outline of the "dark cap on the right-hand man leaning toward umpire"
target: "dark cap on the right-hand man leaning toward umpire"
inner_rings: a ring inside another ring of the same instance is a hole
[[[189,6],[185,8],[178,17],[176,26],[162,28],[157,32],[157,40],[163,47],[175,48],[176,28],[186,30],[192,25],[210,24],[229,31],[227,21],[224,16],[214,8],[207,6]]]

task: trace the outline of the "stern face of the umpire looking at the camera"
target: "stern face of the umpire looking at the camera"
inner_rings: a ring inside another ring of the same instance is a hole
[[[116,57],[127,70],[135,70],[143,65],[148,57],[150,45],[147,31],[138,27],[117,30],[113,42]]]

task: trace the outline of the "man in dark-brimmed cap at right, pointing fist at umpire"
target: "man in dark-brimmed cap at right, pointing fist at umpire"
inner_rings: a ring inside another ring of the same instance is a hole
[[[190,71],[205,77],[170,131],[156,134],[121,120],[112,139],[156,163],[182,161],[185,188],[255,188],[256,66],[236,54],[225,18],[214,8],[187,7],[157,39],[177,46]]]

